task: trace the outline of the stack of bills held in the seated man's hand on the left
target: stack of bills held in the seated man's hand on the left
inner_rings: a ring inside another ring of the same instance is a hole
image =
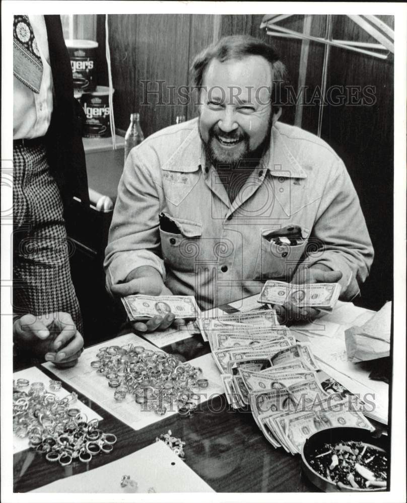
[[[195,319],[200,316],[199,307],[192,296],[128,295],[121,300],[131,321],[143,321],[157,315],[164,317],[168,313],[175,314],[176,319]]]

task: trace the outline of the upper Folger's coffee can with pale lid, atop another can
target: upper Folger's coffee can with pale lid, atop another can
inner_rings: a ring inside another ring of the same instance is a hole
[[[65,40],[68,49],[74,89],[81,93],[93,91],[96,87],[96,49],[93,40]]]

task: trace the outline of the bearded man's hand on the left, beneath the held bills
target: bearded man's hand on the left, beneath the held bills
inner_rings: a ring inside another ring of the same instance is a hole
[[[151,266],[142,266],[133,269],[124,280],[124,283],[112,285],[111,291],[113,294],[120,297],[127,295],[172,295],[172,292],[164,285],[161,274]],[[132,322],[134,330],[139,332],[154,332],[155,330],[165,330],[172,323],[175,325],[182,324],[182,320],[174,321],[174,314],[169,313],[164,317],[155,316],[149,319],[146,323],[142,321]]]

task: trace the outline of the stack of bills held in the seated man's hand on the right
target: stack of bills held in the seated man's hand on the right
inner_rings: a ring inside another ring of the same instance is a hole
[[[268,280],[260,292],[258,302],[262,304],[291,303],[298,307],[313,307],[332,311],[341,293],[339,283],[306,283],[294,285],[284,281]]]

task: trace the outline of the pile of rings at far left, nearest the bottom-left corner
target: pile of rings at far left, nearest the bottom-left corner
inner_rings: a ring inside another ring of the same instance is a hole
[[[72,392],[59,399],[52,391],[61,388],[60,381],[43,382],[28,379],[13,381],[13,431],[17,437],[28,437],[30,447],[45,454],[48,461],[61,466],[79,459],[89,463],[100,452],[110,453],[115,435],[98,429],[99,422],[87,422],[86,414],[73,407],[78,396]],[[86,420],[85,420],[86,418]]]

